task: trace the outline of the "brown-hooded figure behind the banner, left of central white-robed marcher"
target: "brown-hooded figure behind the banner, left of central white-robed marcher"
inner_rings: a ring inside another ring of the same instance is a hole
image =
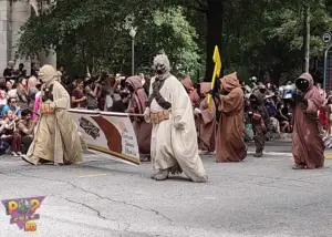
[[[133,114],[144,114],[147,95],[143,89],[142,79],[139,76],[126,79],[126,87],[132,93],[127,112]],[[142,116],[134,116],[133,126],[137,137],[141,161],[146,162],[151,156],[152,124],[146,123]]]

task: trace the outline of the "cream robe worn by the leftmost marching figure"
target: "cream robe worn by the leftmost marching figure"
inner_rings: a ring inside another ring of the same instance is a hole
[[[55,114],[41,115],[27,156],[46,159],[54,164],[81,163],[83,151],[77,127],[66,111],[70,109],[70,95],[58,81],[53,82],[53,99]]]

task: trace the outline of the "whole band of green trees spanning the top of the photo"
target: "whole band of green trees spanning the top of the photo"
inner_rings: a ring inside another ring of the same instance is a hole
[[[330,0],[58,0],[22,28],[18,53],[32,56],[53,48],[62,63],[81,70],[129,73],[125,22],[132,16],[136,70],[149,71],[153,56],[164,51],[176,73],[197,79],[207,65],[209,80],[217,44],[227,72],[240,70],[242,80],[268,74],[278,82],[284,72],[301,71],[304,3],[310,6],[311,56],[320,58],[326,47],[321,34],[332,31]]]

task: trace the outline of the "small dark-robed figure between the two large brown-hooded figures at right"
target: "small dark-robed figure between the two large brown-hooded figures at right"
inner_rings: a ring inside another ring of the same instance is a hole
[[[250,97],[249,118],[252,124],[253,141],[256,145],[255,157],[261,157],[266,145],[266,134],[270,126],[270,116],[264,106],[264,95],[255,91]]]

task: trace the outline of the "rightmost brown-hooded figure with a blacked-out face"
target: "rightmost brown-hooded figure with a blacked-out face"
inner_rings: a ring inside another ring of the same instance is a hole
[[[321,168],[324,166],[325,146],[320,135],[318,111],[323,105],[323,97],[309,73],[297,79],[295,86],[299,91],[293,95],[293,168]]]

